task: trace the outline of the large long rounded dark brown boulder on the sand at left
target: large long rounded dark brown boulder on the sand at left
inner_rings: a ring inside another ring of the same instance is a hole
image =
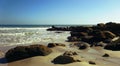
[[[46,56],[52,52],[44,45],[17,46],[8,50],[5,57],[8,62],[25,59],[33,56]]]

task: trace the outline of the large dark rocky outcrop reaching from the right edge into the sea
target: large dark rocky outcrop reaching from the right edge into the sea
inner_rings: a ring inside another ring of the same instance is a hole
[[[111,43],[112,39],[120,35],[120,24],[109,22],[106,24],[99,23],[96,26],[70,26],[70,27],[55,27],[48,30],[56,31],[71,31],[71,36],[68,37],[68,41],[84,41],[90,44],[96,42]]]

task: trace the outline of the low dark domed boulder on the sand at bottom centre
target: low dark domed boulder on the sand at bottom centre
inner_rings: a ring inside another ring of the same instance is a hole
[[[75,62],[73,57],[70,56],[58,56],[53,61],[54,64],[68,64]]]

